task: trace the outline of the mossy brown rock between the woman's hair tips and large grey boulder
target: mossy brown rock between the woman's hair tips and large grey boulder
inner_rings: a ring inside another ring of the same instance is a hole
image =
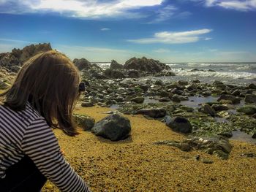
[[[78,126],[83,128],[83,131],[91,131],[91,128],[95,124],[94,118],[91,118],[87,115],[74,114],[73,118],[75,120],[75,123],[77,123]]]

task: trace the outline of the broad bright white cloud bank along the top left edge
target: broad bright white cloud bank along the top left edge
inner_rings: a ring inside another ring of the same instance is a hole
[[[157,6],[162,4],[162,1],[164,0],[0,0],[0,5],[4,7],[0,12],[14,13],[14,10],[19,9],[21,12],[59,12],[75,18],[141,18],[142,13],[134,10]]]

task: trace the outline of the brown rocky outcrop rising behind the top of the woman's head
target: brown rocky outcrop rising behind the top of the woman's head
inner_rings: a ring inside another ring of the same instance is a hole
[[[0,66],[10,69],[11,72],[18,72],[18,68],[15,66],[22,66],[32,56],[48,50],[52,50],[50,43],[32,44],[23,47],[22,50],[14,48],[11,53],[0,54]]]

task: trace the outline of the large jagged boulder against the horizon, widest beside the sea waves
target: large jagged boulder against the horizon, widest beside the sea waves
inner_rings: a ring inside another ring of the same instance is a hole
[[[170,67],[154,59],[143,57],[130,58],[125,62],[124,69],[135,69],[143,72],[158,73],[162,72],[164,69],[170,69]]]

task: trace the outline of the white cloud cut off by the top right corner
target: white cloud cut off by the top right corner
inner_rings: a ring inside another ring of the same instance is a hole
[[[256,9],[256,0],[190,0],[203,1],[206,7],[222,7],[238,11],[249,11]]]

